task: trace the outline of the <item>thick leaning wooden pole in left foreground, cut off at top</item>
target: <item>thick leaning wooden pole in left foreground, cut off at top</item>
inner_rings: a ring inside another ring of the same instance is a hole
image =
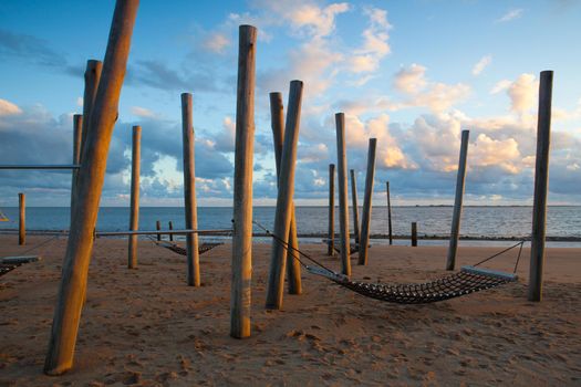
[[[44,363],[44,373],[49,375],[63,374],[73,365],[74,346],[86,292],[89,263],[93,251],[93,230],[138,4],[138,0],[120,0],[115,4],[103,73],[91,113],[84,156],[79,170],[79,201],[71,222]]]

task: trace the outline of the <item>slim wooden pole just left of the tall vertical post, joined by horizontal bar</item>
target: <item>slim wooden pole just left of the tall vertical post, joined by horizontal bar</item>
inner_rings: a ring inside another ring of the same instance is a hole
[[[186,207],[186,229],[198,228],[198,205],[196,201],[196,135],[194,133],[194,113],[191,94],[181,94],[181,134],[184,148],[184,200]],[[200,286],[198,234],[186,236],[187,281],[189,286]]]

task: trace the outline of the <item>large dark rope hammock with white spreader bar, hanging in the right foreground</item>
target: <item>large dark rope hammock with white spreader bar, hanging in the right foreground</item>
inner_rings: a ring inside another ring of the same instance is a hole
[[[517,272],[520,254],[522,252],[522,244],[525,243],[525,241],[518,242],[517,244],[511,245],[508,249],[505,249],[491,257],[488,257],[487,259],[476,263],[473,266],[463,266],[459,272],[446,275],[442,279],[432,282],[409,284],[380,284],[351,281],[349,276],[336,273],[331,269],[325,268],[322,263],[318,262],[304,252],[293,249],[291,245],[289,245],[287,242],[284,242],[277,236],[272,234],[269,230],[263,228],[258,222],[255,221],[255,223],[262,230],[264,230],[268,236],[272,237],[278,242],[280,242],[287,250],[295,250],[300,255],[307,258],[308,260],[317,264],[318,268],[310,266],[302,262],[300,259],[298,259],[299,262],[310,273],[324,276],[325,279],[331,280],[334,283],[366,297],[398,304],[428,304],[437,301],[459,297],[461,295],[476,293],[487,289],[492,289],[499,285],[507,284],[509,282],[515,282],[518,279],[518,276],[515,273]],[[492,258],[498,257],[519,245],[520,250],[512,274],[476,268],[477,265],[487,262]]]

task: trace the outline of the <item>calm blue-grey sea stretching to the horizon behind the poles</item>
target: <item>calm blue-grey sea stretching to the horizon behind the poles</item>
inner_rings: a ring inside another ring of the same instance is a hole
[[[1,229],[18,228],[18,208],[1,209],[10,219],[0,222]],[[336,211],[336,210],[335,210]],[[417,222],[418,234],[447,238],[452,223],[452,207],[394,207],[392,222],[395,236],[409,236],[412,222]],[[228,207],[198,208],[200,229],[227,229],[231,227],[232,209]],[[271,229],[274,219],[273,207],[256,207],[255,219]],[[335,212],[335,220],[339,216]],[[361,209],[360,209],[361,218]],[[515,238],[530,234],[531,207],[465,207],[460,234],[477,239]],[[127,230],[129,209],[123,207],[103,207],[98,213],[97,230]],[[352,221],[350,212],[350,221]],[[160,220],[163,228],[173,221],[174,229],[184,228],[184,209],[179,207],[143,207],[139,213],[139,229],[155,229],[155,221]],[[338,220],[339,221],[339,220]],[[328,228],[326,207],[297,207],[299,234],[304,237],[324,236]],[[69,228],[69,208],[30,207],[27,208],[27,229],[64,230]],[[339,230],[339,226],[335,227]],[[371,230],[373,234],[387,234],[387,209],[374,207]],[[256,231],[260,231],[256,229]],[[547,236],[581,240],[581,207],[549,207]],[[575,243],[577,244],[577,243]]]

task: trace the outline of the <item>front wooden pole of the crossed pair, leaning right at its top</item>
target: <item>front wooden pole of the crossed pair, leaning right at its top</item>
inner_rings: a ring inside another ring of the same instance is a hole
[[[282,306],[282,290],[284,287],[284,266],[287,261],[287,244],[289,243],[290,223],[292,218],[292,196],[294,194],[294,165],[297,164],[297,144],[301,121],[302,81],[291,81],[289,91],[289,111],[284,128],[284,142],[280,158],[279,189],[277,211],[274,213],[273,234],[270,253],[270,272],[268,278],[267,305],[269,310]],[[281,240],[281,241],[279,241]]]

